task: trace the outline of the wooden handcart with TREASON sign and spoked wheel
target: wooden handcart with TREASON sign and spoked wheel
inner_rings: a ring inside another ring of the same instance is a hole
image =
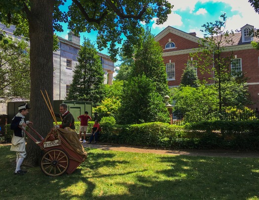
[[[43,138],[31,126],[28,127],[37,134],[40,141],[37,141],[37,139],[20,126],[35,141],[40,149],[45,152],[40,162],[40,168],[46,175],[59,176],[65,172],[71,174],[85,160],[86,156],[80,155],[64,136],[58,132],[58,128],[51,129],[51,132],[48,133],[46,138]]]

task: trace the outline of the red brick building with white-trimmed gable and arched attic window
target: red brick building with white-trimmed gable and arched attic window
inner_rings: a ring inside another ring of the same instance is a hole
[[[259,41],[257,37],[251,37],[249,31],[253,30],[251,25],[245,25],[240,32],[232,36],[233,44],[225,44],[223,54],[234,56],[231,70],[242,71],[249,77],[247,82],[249,92],[254,102],[251,108],[259,108],[259,50],[252,47],[251,41]],[[188,61],[192,60],[190,53],[193,53],[199,46],[199,37],[196,33],[185,33],[168,26],[155,36],[155,40],[163,48],[163,59],[166,65],[167,80],[169,87],[177,87],[181,83],[183,69]],[[222,56],[223,56],[222,54]],[[203,78],[197,70],[198,78]],[[211,76],[207,74],[207,77]]]

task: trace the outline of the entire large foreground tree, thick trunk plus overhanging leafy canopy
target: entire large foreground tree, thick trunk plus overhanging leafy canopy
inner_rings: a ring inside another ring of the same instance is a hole
[[[53,101],[53,30],[62,31],[60,22],[69,20],[69,29],[74,33],[98,31],[98,48],[110,45],[111,58],[118,52],[116,43],[122,43],[121,34],[126,35],[128,46],[138,43],[143,32],[141,21],[156,23],[167,20],[173,7],[167,0],[72,0],[69,12],[61,12],[59,5],[66,0],[1,0],[0,21],[16,26],[15,34],[28,36],[30,40],[32,107],[40,107],[41,114],[30,112],[30,121],[44,137],[53,126],[53,119],[42,100],[40,90],[46,90]],[[19,31],[18,31],[19,30]],[[110,42],[110,43],[109,43]],[[131,48],[128,48],[130,51]],[[44,119],[44,120],[42,120]],[[26,162],[37,165],[41,150],[28,140]]]

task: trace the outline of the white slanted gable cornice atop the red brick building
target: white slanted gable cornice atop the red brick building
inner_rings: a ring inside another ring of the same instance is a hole
[[[185,33],[185,32],[183,32],[183,31],[180,31],[180,30],[175,29],[175,28],[170,27],[170,26],[168,26],[167,28],[165,28],[162,32],[158,33],[158,34],[154,37],[154,39],[155,39],[156,41],[159,41],[160,39],[162,39],[162,38],[163,38],[166,34],[168,34],[168,33],[176,34],[176,35],[178,35],[178,36],[180,36],[180,37],[183,37],[183,38],[185,38],[185,39],[188,39],[188,40],[193,41],[193,42],[196,42],[196,43],[198,43],[198,41],[199,41],[199,37],[196,37],[196,36],[193,36],[193,35],[191,35],[191,34]]]

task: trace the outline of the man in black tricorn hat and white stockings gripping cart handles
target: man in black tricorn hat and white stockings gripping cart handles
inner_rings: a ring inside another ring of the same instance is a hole
[[[22,104],[18,107],[19,112],[15,115],[12,119],[12,123],[10,125],[11,130],[13,130],[13,137],[12,137],[12,146],[11,151],[16,151],[16,169],[14,174],[23,175],[26,171],[21,170],[21,165],[23,160],[26,157],[26,150],[25,150],[25,132],[20,129],[18,126],[26,127],[28,124],[32,125],[33,123],[30,121],[24,121],[24,116],[29,113],[29,105],[27,103]],[[18,146],[22,148],[17,148]],[[16,146],[16,147],[15,147]],[[13,148],[14,147],[14,148]],[[15,149],[17,148],[17,149]]]

